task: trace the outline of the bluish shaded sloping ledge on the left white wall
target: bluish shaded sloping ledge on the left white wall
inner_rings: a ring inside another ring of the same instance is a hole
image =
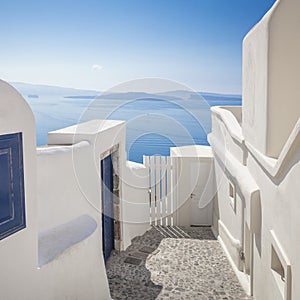
[[[85,240],[97,228],[97,222],[82,215],[68,223],[39,234],[39,267],[53,261],[65,250]]]

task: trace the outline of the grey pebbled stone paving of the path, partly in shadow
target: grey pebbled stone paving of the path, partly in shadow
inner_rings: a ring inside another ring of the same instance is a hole
[[[251,299],[207,227],[152,227],[106,268],[114,300]]]

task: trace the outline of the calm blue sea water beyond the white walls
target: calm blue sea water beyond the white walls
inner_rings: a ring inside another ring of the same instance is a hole
[[[143,155],[169,155],[170,147],[207,145],[211,130],[210,107],[241,105],[240,96],[198,94],[190,99],[65,98],[66,95],[24,95],[36,120],[37,145],[47,143],[47,133],[91,119],[127,122],[128,159],[142,162]]]

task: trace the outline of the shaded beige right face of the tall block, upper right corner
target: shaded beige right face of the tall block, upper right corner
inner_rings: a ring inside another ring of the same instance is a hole
[[[278,157],[300,117],[300,2],[280,1],[269,22],[267,155]]]

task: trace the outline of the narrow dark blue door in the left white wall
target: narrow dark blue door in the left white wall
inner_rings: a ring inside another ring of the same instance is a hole
[[[102,244],[104,260],[114,249],[113,166],[111,155],[101,161],[102,180]]]

